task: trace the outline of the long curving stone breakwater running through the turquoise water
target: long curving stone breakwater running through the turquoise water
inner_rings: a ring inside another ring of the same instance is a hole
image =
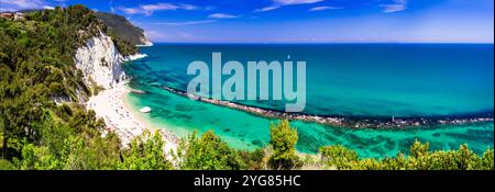
[[[287,113],[277,110],[250,106],[231,101],[222,101],[189,94],[186,91],[162,87],[164,90],[177,95],[197,99],[200,102],[211,103],[220,106],[252,113],[255,115],[268,118],[284,118],[296,120],[302,122],[312,122],[331,126],[348,127],[348,128],[408,128],[419,126],[435,126],[435,125],[457,125],[468,123],[493,122],[493,112],[465,114],[465,115],[439,115],[439,116],[416,116],[416,117],[394,117],[394,116],[339,116],[339,115],[310,115],[304,113]]]

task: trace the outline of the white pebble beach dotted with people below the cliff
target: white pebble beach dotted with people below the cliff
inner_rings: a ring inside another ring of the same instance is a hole
[[[105,120],[106,132],[114,132],[120,137],[122,147],[128,147],[134,137],[141,135],[146,128],[151,128],[125,104],[124,97],[131,90],[128,89],[127,82],[120,82],[114,88],[91,97],[86,103],[87,109],[94,110],[98,117]],[[150,131],[154,132],[154,129]],[[178,138],[167,129],[158,129],[158,132],[165,140],[164,151],[168,153],[170,149],[175,151]]]

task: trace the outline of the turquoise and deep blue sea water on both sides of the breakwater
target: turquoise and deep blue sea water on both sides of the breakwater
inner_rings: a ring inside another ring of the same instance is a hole
[[[139,115],[154,127],[166,127],[179,136],[194,129],[213,129],[235,148],[265,145],[268,125],[276,121],[193,101],[161,88],[184,90],[194,78],[186,75],[187,65],[194,60],[210,64],[212,52],[222,53],[222,63],[306,61],[304,113],[308,114],[430,116],[493,112],[492,44],[158,44],[141,52],[148,57],[124,66],[133,78],[130,86],[146,91],[130,93],[127,102],[135,110],[153,109],[150,114]],[[244,103],[284,108],[276,101]],[[362,157],[385,157],[407,151],[414,139],[430,142],[432,149],[458,148],[468,143],[481,153],[493,148],[494,142],[493,122],[402,131],[352,129],[297,121],[292,125],[298,128],[298,150],[305,153],[342,144]]]

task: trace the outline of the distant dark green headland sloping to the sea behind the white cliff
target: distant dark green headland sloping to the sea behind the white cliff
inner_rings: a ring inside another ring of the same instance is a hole
[[[106,12],[95,12],[95,15],[100,19],[112,33],[116,33],[124,41],[130,42],[133,45],[152,45],[150,39],[144,35],[144,31],[133,25],[124,16]]]

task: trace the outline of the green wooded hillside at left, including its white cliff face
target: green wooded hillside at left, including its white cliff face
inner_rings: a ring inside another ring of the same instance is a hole
[[[134,45],[84,5],[1,18],[0,42],[0,169],[130,169],[85,101],[125,77]]]

